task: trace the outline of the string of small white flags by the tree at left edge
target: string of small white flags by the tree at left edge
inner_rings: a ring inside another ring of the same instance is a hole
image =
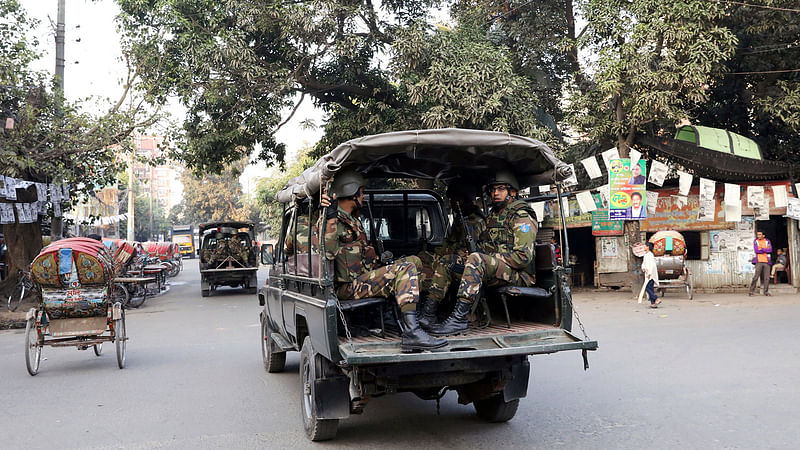
[[[18,202],[17,189],[36,186],[36,201]],[[47,216],[52,206],[53,216],[61,217],[61,204],[70,201],[68,183],[35,183],[14,177],[0,175],[0,197],[8,203],[0,203],[0,223],[33,223],[39,216]],[[16,217],[15,217],[16,213]]]

